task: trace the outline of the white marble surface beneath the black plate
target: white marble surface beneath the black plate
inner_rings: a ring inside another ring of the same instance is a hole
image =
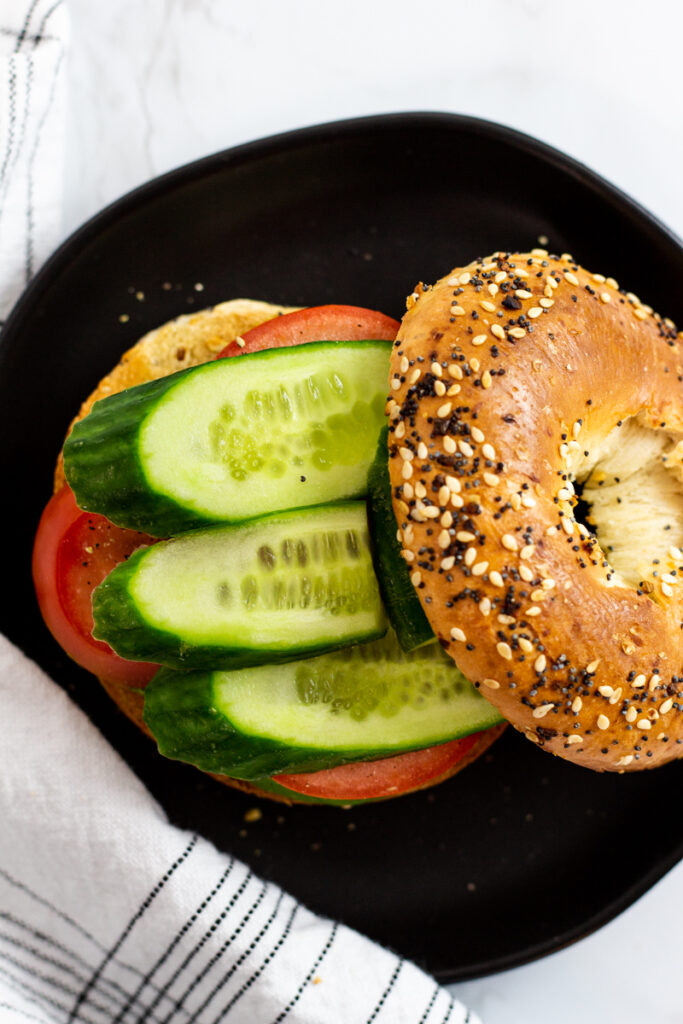
[[[148,177],[238,142],[441,110],[566,151],[683,234],[677,0],[69,5],[65,233]],[[454,991],[486,1024],[683,1022],[682,908],[678,867],[596,935]]]

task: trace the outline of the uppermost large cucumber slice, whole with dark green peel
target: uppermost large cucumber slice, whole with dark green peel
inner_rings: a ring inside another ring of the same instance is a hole
[[[170,537],[366,494],[388,341],[216,359],[98,401],[65,444],[80,508]]]

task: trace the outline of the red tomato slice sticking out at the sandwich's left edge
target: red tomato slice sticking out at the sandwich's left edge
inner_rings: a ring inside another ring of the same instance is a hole
[[[113,682],[142,686],[158,666],[127,662],[92,636],[92,591],[136,548],[154,544],[146,534],[115,526],[83,512],[63,486],[45,507],[33,548],[33,579],[43,618],[70,657]]]

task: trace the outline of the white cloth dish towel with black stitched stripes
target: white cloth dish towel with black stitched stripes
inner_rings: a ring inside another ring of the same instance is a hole
[[[58,239],[65,34],[60,0],[0,0],[0,317]],[[415,965],[171,826],[3,637],[0,725],[0,1024],[475,1024]]]

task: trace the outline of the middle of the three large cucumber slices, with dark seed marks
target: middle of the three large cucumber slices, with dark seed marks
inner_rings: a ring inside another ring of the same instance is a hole
[[[281,512],[138,549],[93,594],[93,636],[180,668],[280,662],[373,639],[386,620],[364,502]]]

